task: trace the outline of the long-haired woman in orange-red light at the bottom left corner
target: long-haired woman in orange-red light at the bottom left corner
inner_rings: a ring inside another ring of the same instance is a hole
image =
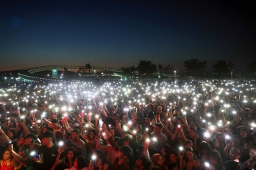
[[[12,156],[11,151],[6,150],[4,151],[3,160],[0,160],[0,167],[1,170],[14,170],[15,167],[15,159]]]

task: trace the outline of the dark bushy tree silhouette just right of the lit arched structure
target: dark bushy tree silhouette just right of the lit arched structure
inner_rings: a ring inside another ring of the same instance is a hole
[[[153,64],[150,60],[140,60],[137,70],[140,75],[152,75],[152,73],[157,72],[157,66]]]

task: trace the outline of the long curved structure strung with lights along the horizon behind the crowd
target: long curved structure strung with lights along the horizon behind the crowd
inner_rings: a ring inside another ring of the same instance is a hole
[[[55,78],[45,78],[45,77],[38,77],[33,75],[35,72],[43,72],[43,71],[52,71],[52,70],[58,70],[58,71],[64,71],[64,68],[67,68],[69,71],[77,72],[82,71],[86,69],[84,66],[69,66],[69,65],[47,65],[47,66],[39,66],[39,67],[27,67],[27,68],[22,68],[19,69],[18,72],[18,80],[21,81],[35,81],[35,82],[41,82],[41,81],[63,81],[62,79],[58,78],[58,76]],[[116,77],[122,77],[122,70],[120,68],[114,68],[114,67],[99,67],[99,66],[91,66],[91,72],[92,75],[95,75],[96,72],[109,72],[111,76],[116,76]],[[138,72],[136,71],[135,74],[137,75]],[[153,73],[153,75],[160,75],[159,72]],[[174,75],[174,74],[162,74],[165,77],[170,77],[170,78],[178,78],[180,77],[179,75]]]

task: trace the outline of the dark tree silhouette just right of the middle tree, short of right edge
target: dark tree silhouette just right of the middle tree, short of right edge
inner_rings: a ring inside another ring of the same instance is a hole
[[[226,60],[219,60],[216,63],[214,63],[212,67],[214,68],[214,72],[222,75],[228,74],[229,72],[234,71],[233,70],[234,64]]]

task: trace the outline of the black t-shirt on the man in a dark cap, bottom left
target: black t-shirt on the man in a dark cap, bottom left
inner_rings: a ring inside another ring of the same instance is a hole
[[[55,159],[58,156],[58,146],[53,145],[51,148],[47,148],[46,146],[40,146],[39,153],[42,154],[43,163],[40,166],[40,169],[50,169],[52,165],[55,163]]]

